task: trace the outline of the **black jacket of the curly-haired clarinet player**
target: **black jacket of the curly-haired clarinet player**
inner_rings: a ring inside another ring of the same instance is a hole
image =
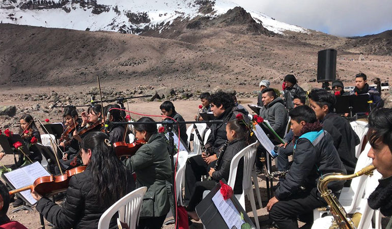
[[[219,117],[215,118],[215,120],[223,120],[223,123],[214,123],[211,125],[211,134],[208,136],[206,144],[207,152],[211,152],[211,154],[216,154],[216,156],[219,156],[219,149],[227,141],[227,122],[235,118],[236,116],[233,113],[233,107],[229,107]]]

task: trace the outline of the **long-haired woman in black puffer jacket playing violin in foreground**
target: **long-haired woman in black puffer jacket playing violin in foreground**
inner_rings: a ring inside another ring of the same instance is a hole
[[[117,158],[106,134],[87,134],[80,148],[87,168],[71,177],[62,207],[32,192],[38,201],[37,211],[58,228],[97,228],[102,213],[135,189],[133,177]],[[110,221],[110,228],[117,228],[116,219]]]

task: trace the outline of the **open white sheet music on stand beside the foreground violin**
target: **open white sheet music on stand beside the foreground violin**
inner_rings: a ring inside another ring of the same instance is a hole
[[[15,187],[15,189],[23,188],[32,185],[37,178],[50,176],[49,172],[37,161],[33,164],[26,165],[22,168],[15,169],[9,173],[4,174],[7,180]],[[34,205],[37,201],[31,195],[31,191],[25,190],[20,194],[26,199],[29,204]]]

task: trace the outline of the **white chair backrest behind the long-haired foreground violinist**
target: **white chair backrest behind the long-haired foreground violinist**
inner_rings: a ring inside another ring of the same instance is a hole
[[[128,224],[129,228],[136,228],[143,203],[143,196],[146,194],[146,191],[147,187],[141,187],[119,199],[99,218],[98,228],[109,228],[110,219],[116,212],[119,213],[121,222]]]

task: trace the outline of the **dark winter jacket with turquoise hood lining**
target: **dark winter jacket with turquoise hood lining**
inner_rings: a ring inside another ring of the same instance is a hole
[[[301,191],[300,186],[311,190],[317,187],[320,176],[327,173],[343,173],[346,169],[333,147],[331,135],[324,131],[312,131],[302,134],[294,146],[293,164],[285,181],[276,188],[278,200],[287,199]],[[332,191],[343,188],[343,183],[331,182],[328,185]]]

